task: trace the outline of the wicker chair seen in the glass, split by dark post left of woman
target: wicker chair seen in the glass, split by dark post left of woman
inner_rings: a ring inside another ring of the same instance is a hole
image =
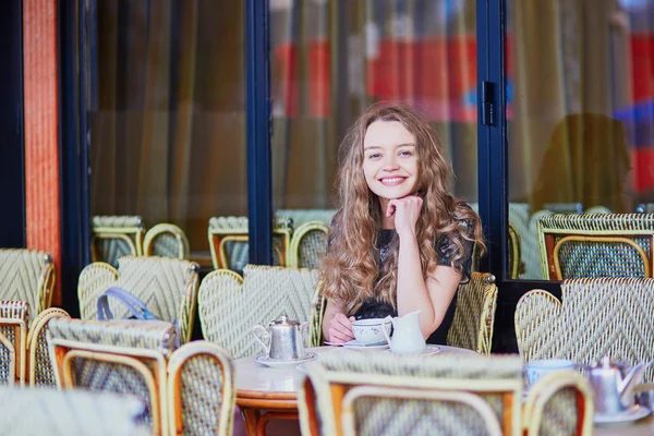
[[[249,221],[246,217],[213,217],[209,219],[209,250],[215,269],[231,269],[241,274],[249,259]],[[276,217],[272,221],[272,262],[284,266],[293,232],[293,221]]]

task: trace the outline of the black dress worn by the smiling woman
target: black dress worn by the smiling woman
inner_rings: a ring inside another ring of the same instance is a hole
[[[459,220],[459,226],[462,228],[464,232],[472,235],[474,233],[474,220]],[[397,232],[395,229],[383,229],[377,234],[377,254],[378,254],[378,266],[379,270],[384,265],[384,262],[388,257],[388,247],[393,238],[396,238]],[[467,283],[470,280],[470,269],[472,267],[472,249],[473,242],[468,240],[461,241],[463,244],[463,257],[455,263],[455,266],[461,270],[462,278],[461,283]],[[458,254],[459,247],[455,244],[455,242],[447,237],[440,238],[436,244],[436,254],[438,255],[438,264],[445,266],[451,266],[452,258]],[[447,332],[452,324],[455,318],[455,310],[457,308],[457,292],[450,302],[447,312],[443,318],[443,323],[440,326],[434,331],[428,338],[427,343],[435,344],[446,344],[447,343]],[[379,301],[376,299],[368,299],[363,302],[363,304],[359,307],[359,310],[349,315],[354,316],[355,319],[367,319],[367,318],[385,318],[386,316],[398,316],[398,312],[392,308],[392,306],[384,301]]]

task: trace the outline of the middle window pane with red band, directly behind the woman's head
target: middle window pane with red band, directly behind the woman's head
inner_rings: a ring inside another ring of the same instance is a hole
[[[475,0],[270,1],[278,215],[329,223],[339,142],[382,100],[429,119],[456,195],[477,201],[475,12]]]

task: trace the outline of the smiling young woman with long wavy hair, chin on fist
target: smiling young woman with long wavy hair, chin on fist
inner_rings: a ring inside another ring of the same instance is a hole
[[[449,194],[451,169],[415,111],[371,107],[341,144],[339,209],[323,262],[323,332],[342,343],[351,323],[421,310],[428,343],[445,343],[456,291],[470,278],[477,215]]]

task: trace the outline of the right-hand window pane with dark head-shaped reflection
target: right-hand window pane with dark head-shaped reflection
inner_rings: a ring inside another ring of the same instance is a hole
[[[538,280],[538,216],[654,202],[654,2],[521,0],[507,12],[509,221],[519,277]]]

